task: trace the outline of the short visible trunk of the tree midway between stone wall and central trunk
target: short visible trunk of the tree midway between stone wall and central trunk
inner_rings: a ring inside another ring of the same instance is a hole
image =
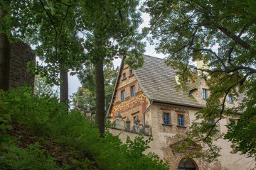
[[[68,72],[64,69],[60,70],[60,80],[62,81],[60,85],[60,102],[68,105]]]

